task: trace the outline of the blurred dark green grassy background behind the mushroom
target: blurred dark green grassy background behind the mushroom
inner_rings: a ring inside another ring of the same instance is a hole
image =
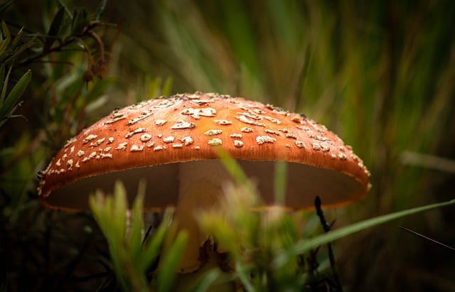
[[[11,34],[26,28],[18,45],[49,34],[58,1],[6,2],[0,16]],[[61,2],[96,18],[99,3]],[[99,16],[116,24],[94,28],[105,55],[94,38],[60,30],[56,38],[77,37],[68,50],[30,60],[45,49],[37,39],[15,62],[1,59],[14,68],[11,84],[32,73],[14,112],[21,117],[0,128],[2,291],[92,291],[103,281],[108,256],[90,215],[44,210],[36,173],[85,126],[160,94],[242,96],[336,132],[363,158],[373,188],[363,202],[328,212],[333,228],[455,197],[454,1],[116,0]],[[107,71],[86,84],[87,66],[100,60]],[[454,214],[425,212],[337,241],[341,283],[350,291],[455,291],[454,252],[397,227],[454,247]],[[81,234],[66,232],[79,222]]]

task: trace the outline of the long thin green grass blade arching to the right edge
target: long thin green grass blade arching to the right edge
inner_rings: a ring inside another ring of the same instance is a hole
[[[295,244],[294,248],[289,249],[288,251],[284,252],[281,256],[278,256],[277,259],[275,260],[275,264],[277,264],[278,266],[281,266],[284,262],[287,261],[287,259],[289,259],[289,257],[293,257],[298,254],[303,254],[305,252],[308,252],[310,249],[319,247],[322,244],[327,244],[328,242],[333,242],[333,240],[346,237],[355,232],[359,232],[359,231],[368,229],[370,227],[374,227],[376,225],[380,225],[382,223],[398,219],[400,217],[405,217],[405,216],[413,215],[413,214],[416,214],[419,212],[424,212],[427,210],[432,210],[432,209],[436,209],[439,207],[444,207],[444,206],[454,205],[454,204],[455,204],[455,200],[450,200],[448,202],[440,202],[437,204],[426,205],[423,207],[415,207],[412,209],[403,210],[400,212],[394,212],[394,213],[390,213],[387,215],[382,215],[379,217],[357,222],[357,223],[348,225],[348,226],[340,228],[340,229],[331,230],[330,232],[328,232],[326,234],[321,234],[312,239],[304,239],[301,242],[298,242],[297,244]]]

